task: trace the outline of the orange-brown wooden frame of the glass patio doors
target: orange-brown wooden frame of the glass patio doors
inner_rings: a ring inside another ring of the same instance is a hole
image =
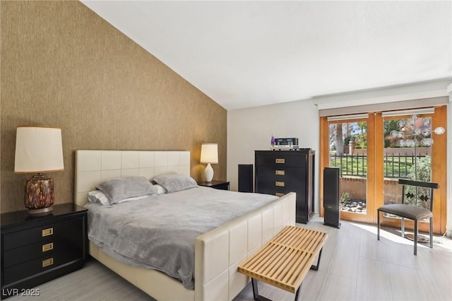
[[[432,128],[443,126],[447,129],[446,105],[435,107],[432,117]],[[403,117],[401,117],[403,118]],[[348,122],[356,122],[359,119],[349,119]],[[352,220],[363,223],[376,224],[376,208],[383,205],[383,117],[381,112],[369,113],[367,121],[367,214],[340,213],[343,220]],[[343,120],[342,122],[347,122]],[[323,168],[329,166],[329,124],[327,117],[320,117],[320,155],[319,155],[319,213],[323,216]],[[374,147],[369,147],[374,146]],[[443,234],[446,231],[447,222],[447,133],[436,135],[432,145],[432,182],[439,183],[439,189],[434,191],[434,232]],[[373,184],[371,184],[373,183]],[[400,228],[400,220],[394,218],[381,218],[381,225]],[[405,228],[412,229],[413,223],[405,221]],[[420,231],[428,232],[428,223],[420,223]]]

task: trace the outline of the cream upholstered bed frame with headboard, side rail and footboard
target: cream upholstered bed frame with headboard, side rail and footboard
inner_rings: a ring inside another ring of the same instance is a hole
[[[107,179],[168,172],[190,175],[189,151],[76,151],[75,200],[84,206],[88,192]],[[232,300],[249,283],[237,266],[285,225],[295,225],[295,193],[221,225],[195,242],[195,290],[160,271],[122,264],[90,242],[90,255],[157,300]]]

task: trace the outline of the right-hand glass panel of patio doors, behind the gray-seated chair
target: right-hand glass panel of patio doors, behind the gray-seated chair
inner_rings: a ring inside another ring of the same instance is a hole
[[[433,111],[433,112],[432,112]],[[430,208],[441,206],[429,199],[429,191],[417,191],[408,187],[405,195],[398,179],[420,182],[435,182],[441,170],[434,170],[433,163],[441,160],[441,150],[434,148],[441,145],[444,126],[433,126],[435,110],[412,110],[410,114],[383,112],[383,202],[411,203],[413,206]],[[440,124],[436,120],[436,124]],[[440,146],[441,147],[441,146]],[[444,161],[446,162],[446,161]],[[434,175],[434,177],[432,177]],[[435,179],[435,180],[434,180]],[[434,191],[436,194],[437,191]],[[441,216],[441,213],[437,214]],[[398,225],[399,218],[389,214],[383,215],[383,222]],[[427,222],[427,223],[425,223]],[[420,230],[428,232],[428,220],[420,221]],[[438,228],[438,227],[437,227]]]

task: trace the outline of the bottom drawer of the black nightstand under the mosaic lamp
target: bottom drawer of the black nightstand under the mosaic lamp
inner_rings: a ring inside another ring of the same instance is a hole
[[[37,273],[47,271],[51,268],[60,266],[61,264],[69,263],[76,259],[82,260],[79,251],[65,250],[64,252],[57,252],[30,261],[23,262],[22,264],[16,264],[4,268],[4,285],[13,283],[15,281],[33,276]]]

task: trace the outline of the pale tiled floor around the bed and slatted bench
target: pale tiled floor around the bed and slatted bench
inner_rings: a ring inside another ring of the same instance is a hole
[[[410,240],[384,229],[376,240],[376,227],[342,221],[340,229],[314,218],[299,225],[328,232],[319,271],[309,271],[299,300],[452,300],[452,242],[435,237],[434,247],[418,245],[413,255]],[[275,301],[294,295],[258,283],[259,293]],[[40,297],[18,300],[153,300],[94,259],[85,268],[38,287]],[[234,301],[253,300],[248,285]]]

